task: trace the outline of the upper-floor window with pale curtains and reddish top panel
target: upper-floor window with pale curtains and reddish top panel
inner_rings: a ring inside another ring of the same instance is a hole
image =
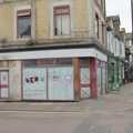
[[[54,16],[54,35],[70,34],[70,6],[53,8]]]

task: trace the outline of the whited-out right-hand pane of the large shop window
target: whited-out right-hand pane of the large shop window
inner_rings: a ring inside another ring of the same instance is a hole
[[[49,99],[74,100],[73,68],[49,68]]]

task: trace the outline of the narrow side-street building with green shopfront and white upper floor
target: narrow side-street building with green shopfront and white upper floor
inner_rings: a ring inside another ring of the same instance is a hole
[[[120,18],[108,17],[108,91],[117,90],[124,80],[125,43],[123,32],[120,31]]]

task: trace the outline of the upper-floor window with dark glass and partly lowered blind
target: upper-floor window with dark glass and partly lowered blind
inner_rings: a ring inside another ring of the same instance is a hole
[[[19,10],[17,12],[17,37],[31,37],[31,10]]]

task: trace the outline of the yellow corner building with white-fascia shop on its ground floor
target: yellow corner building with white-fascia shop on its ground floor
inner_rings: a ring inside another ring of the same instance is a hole
[[[0,99],[79,101],[106,90],[104,0],[3,0]]]

